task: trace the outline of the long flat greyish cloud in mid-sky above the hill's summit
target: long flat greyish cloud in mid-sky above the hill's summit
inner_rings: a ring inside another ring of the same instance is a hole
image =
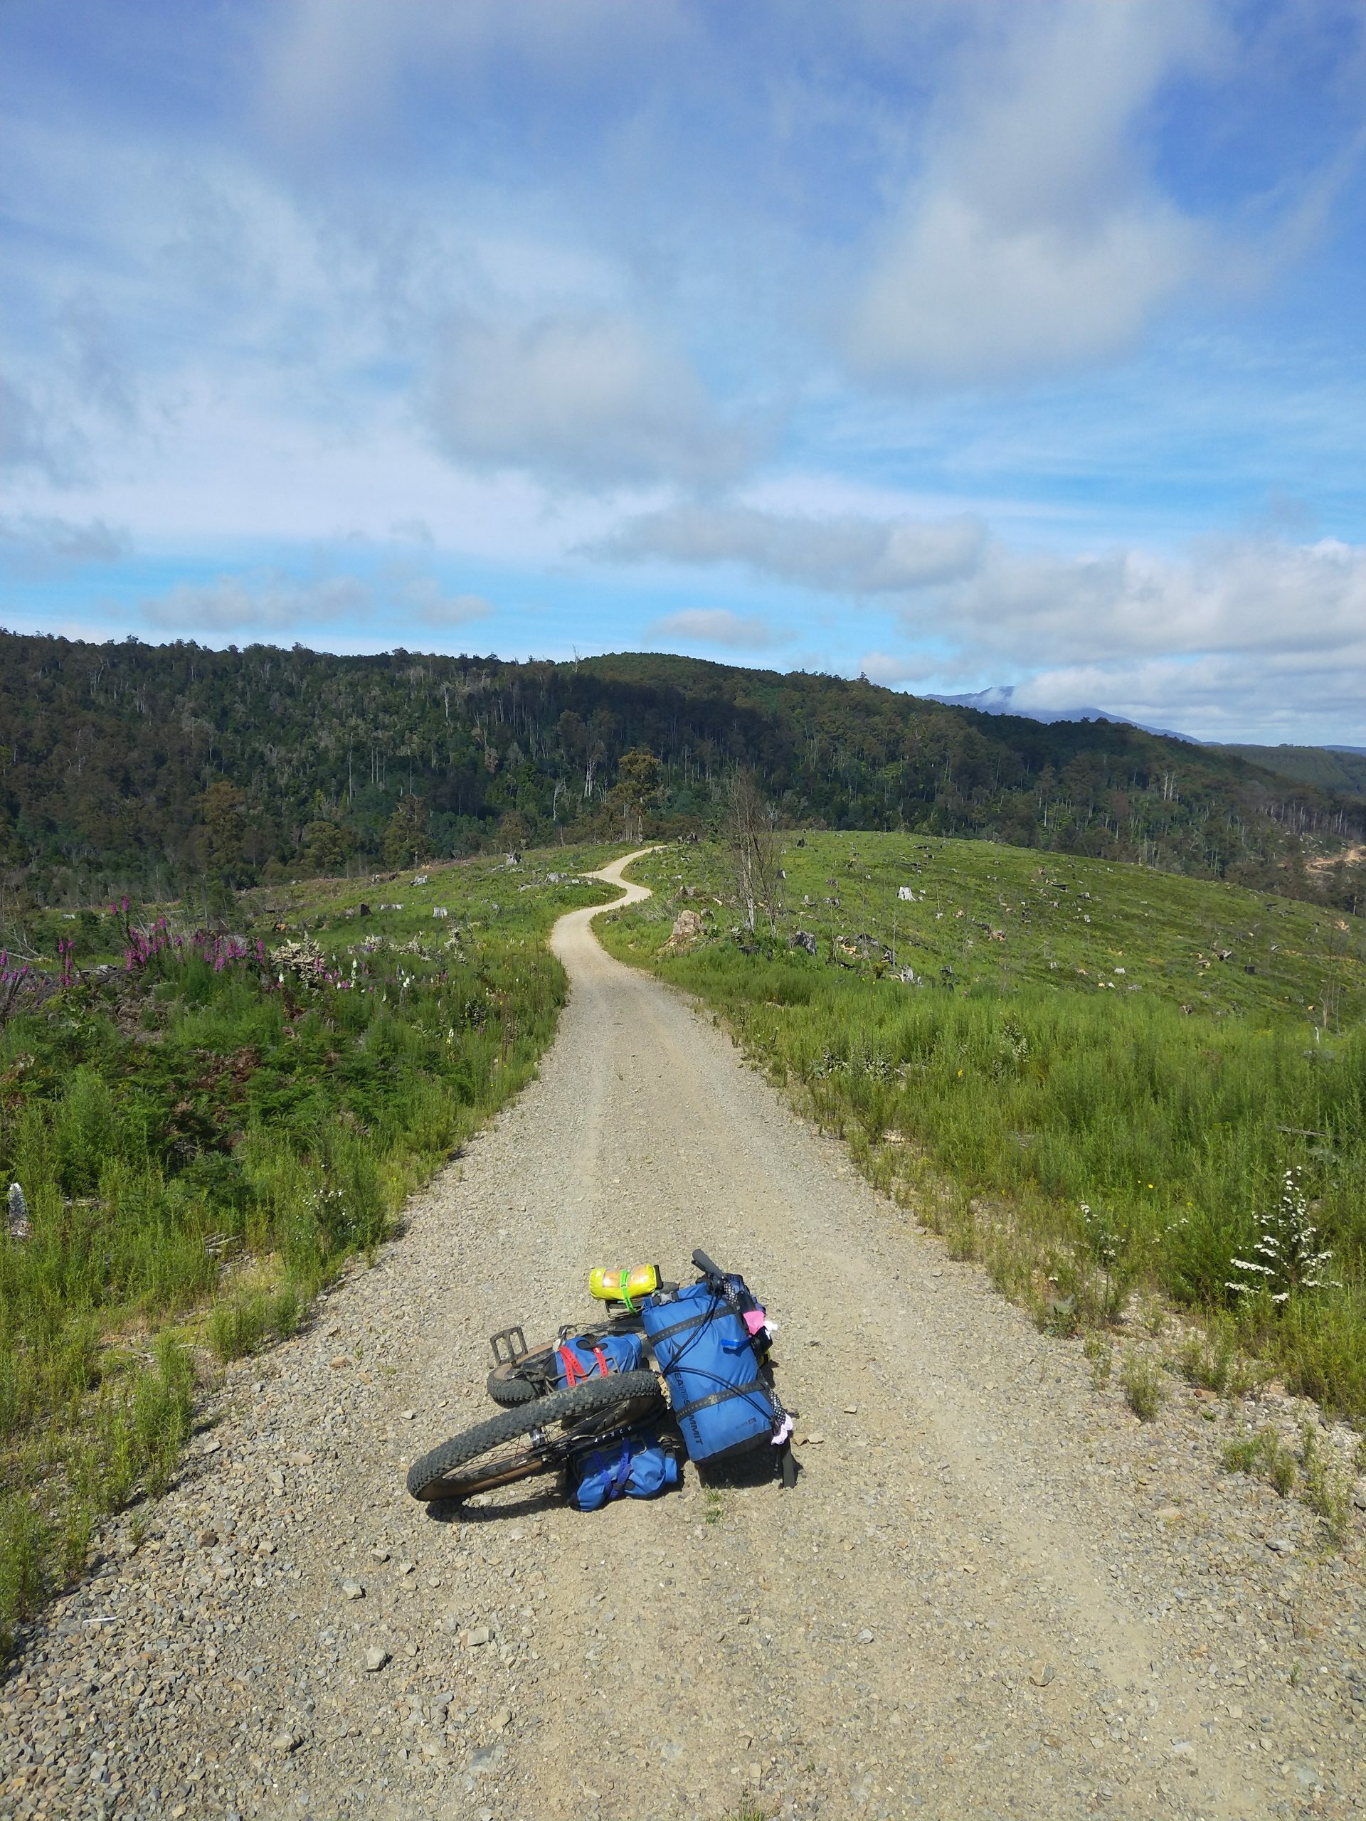
[[[905,594],[971,575],[985,544],[985,526],[971,514],[869,519],[690,504],[628,519],[592,554],[617,561],[739,563],[801,588]]]

